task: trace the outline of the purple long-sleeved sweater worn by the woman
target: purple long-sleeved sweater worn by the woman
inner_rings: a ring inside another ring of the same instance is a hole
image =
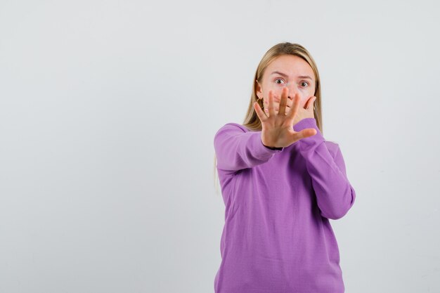
[[[337,143],[314,118],[293,129],[317,134],[272,150],[261,131],[228,123],[214,149],[225,224],[216,293],[342,293],[339,248],[329,219],[340,219],[356,193]]]

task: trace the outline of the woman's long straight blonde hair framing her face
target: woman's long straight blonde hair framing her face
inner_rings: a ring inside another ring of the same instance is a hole
[[[257,81],[261,84],[263,80],[264,71],[268,67],[268,65],[277,57],[283,56],[283,55],[293,55],[298,56],[302,59],[304,59],[307,63],[309,63],[311,69],[313,70],[315,74],[315,93],[313,96],[316,96],[316,100],[314,102],[315,109],[313,110],[315,119],[316,119],[316,125],[318,126],[318,129],[321,131],[321,134],[323,134],[323,119],[322,119],[322,110],[321,110],[321,81],[319,78],[318,73],[318,67],[316,66],[315,60],[311,57],[311,54],[309,51],[306,50],[303,46],[300,44],[292,44],[289,42],[279,43],[273,46],[272,48],[268,49],[268,51],[264,54],[263,58],[261,58],[261,61],[259,65],[257,66],[257,71],[254,75],[253,85],[252,85],[252,93],[250,97],[249,106],[247,107],[247,113],[245,115],[245,120],[243,122],[243,126],[247,127],[247,129],[250,129],[250,131],[261,131],[261,121],[257,115],[257,112],[255,112],[254,109],[254,103],[257,102],[261,109],[263,109],[263,99],[259,99],[257,97]],[[216,154],[214,152],[214,185],[216,186],[216,191],[218,191],[217,188],[217,182],[219,181],[218,176],[216,176]]]

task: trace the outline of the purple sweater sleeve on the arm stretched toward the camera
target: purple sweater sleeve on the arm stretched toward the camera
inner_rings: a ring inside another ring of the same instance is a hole
[[[217,169],[238,171],[268,162],[284,148],[268,148],[261,141],[261,131],[245,131],[234,124],[225,124],[214,136]]]

